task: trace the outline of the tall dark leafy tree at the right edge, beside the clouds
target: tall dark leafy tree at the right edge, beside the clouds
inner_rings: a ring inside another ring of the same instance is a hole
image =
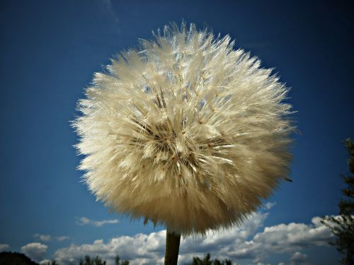
[[[343,255],[341,263],[345,265],[354,264],[354,142],[349,139],[344,141],[349,159],[348,175],[341,175],[346,183],[346,188],[342,189],[343,197],[339,201],[339,216],[325,216],[321,223],[331,228],[333,235],[336,236],[334,242],[338,252]]]

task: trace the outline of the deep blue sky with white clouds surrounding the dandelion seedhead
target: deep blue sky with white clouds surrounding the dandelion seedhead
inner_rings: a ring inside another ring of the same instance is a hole
[[[324,1],[1,1],[0,250],[63,263],[93,254],[88,249],[106,259],[115,251],[140,255],[137,264],[162,258],[164,240],[154,249],[139,242],[156,243],[164,228],[108,213],[81,182],[69,121],[93,73],[114,54],[184,19],[231,35],[236,48],[275,67],[292,88],[301,134],[294,182],[281,184],[243,228],[183,241],[181,261],[210,251],[239,264],[336,264],[316,217],[338,211],[339,174],[347,171],[341,141],[354,138],[353,9]]]

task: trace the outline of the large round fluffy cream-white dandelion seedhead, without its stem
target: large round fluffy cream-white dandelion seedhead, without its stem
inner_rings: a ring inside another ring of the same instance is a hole
[[[289,171],[287,88],[227,35],[172,25],[96,73],[76,145],[113,211],[182,235],[229,228]]]

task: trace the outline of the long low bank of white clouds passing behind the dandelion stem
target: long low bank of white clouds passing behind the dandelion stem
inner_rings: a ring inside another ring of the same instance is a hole
[[[262,264],[270,254],[295,253],[290,264],[308,264],[307,261],[300,263],[299,259],[304,259],[305,255],[299,251],[310,247],[326,247],[333,237],[331,230],[320,223],[319,217],[312,218],[311,224],[289,223],[263,228],[267,216],[268,213],[259,212],[246,220],[240,228],[181,240],[179,263],[185,264],[193,256],[203,257],[206,252],[210,252],[212,259],[251,259],[254,264]],[[122,259],[130,260],[132,265],[164,264],[165,240],[166,230],[149,235],[114,237],[108,242],[96,240],[92,244],[58,249],[54,257],[60,264],[69,264],[79,261],[85,255],[99,255],[109,265],[114,264],[114,257],[119,254]]]

